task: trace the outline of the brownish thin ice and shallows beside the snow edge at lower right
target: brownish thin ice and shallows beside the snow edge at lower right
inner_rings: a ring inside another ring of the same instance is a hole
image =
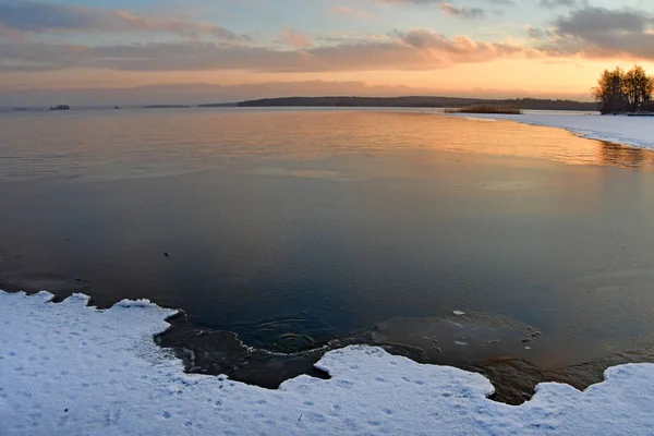
[[[487,314],[467,314],[449,319],[391,319],[365,335],[368,336],[365,343],[379,346],[391,354],[423,364],[449,365],[480,373],[495,387],[493,400],[513,405],[529,401],[540,383],[564,383],[584,390],[603,382],[604,372],[611,366],[654,363],[654,347],[646,347],[573,365],[543,367],[536,363],[538,359],[533,358],[532,351],[560,352],[540,342],[543,337],[547,339],[547,335],[518,320]],[[440,339],[436,341],[436,338]],[[463,342],[467,346],[461,346]]]

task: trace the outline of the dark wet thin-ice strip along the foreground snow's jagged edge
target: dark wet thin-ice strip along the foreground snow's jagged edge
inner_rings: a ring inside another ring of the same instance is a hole
[[[525,343],[537,346],[537,330],[507,317],[465,314],[452,318],[396,318],[365,330],[329,341],[306,338],[300,352],[276,352],[244,344],[232,331],[199,329],[184,316],[169,319],[171,327],[155,341],[174,351],[187,373],[227,376],[232,380],[268,389],[306,374],[329,378],[314,365],[331,350],[352,344],[382,347],[387,352],[422,364],[438,364],[475,372],[487,377],[495,401],[521,404],[544,382],[566,383],[583,390],[603,380],[610,366],[654,362],[654,347],[610,354],[578,365],[544,370],[525,356]],[[524,339],[530,339],[525,342]],[[465,344],[463,344],[465,342]],[[307,343],[314,344],[312,349]],[[291,346],[292,348],[293,346]]]

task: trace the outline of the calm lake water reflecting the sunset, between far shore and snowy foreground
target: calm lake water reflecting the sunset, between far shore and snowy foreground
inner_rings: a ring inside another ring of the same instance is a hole
[[[8,290],[148,298],[277,350],[373,326],[444,352],[497,336],[542,367],[654,343],[652,153],[388,111],[3,113],[0,131]],[[452,311],[473,327],[444,326]]]

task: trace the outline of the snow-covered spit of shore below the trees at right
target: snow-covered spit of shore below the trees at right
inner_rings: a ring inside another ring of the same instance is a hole
[[[654,149],[654,118],[652,117],[530,112],[518,116],[485,113],[474,116],[459,113],[456,116],[480,121],[506,120],[530,125],[559,128],[591,140]]]

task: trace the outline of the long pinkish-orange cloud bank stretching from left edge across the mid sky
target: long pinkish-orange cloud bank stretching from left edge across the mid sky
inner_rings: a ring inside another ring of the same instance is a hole
[[[253,72],[339,72],[434,70],[499,58],[538,57],[538,50],[508,43],[452,39],[427,29],[392,32],[379,39],[314,46],[287,28],[278,49],[199,40],[141,45],[87,46],[71,52],[64,45],[21,41],[0,46],[1,71],[52,71],[95,68],[118,71],[244,70]]]

